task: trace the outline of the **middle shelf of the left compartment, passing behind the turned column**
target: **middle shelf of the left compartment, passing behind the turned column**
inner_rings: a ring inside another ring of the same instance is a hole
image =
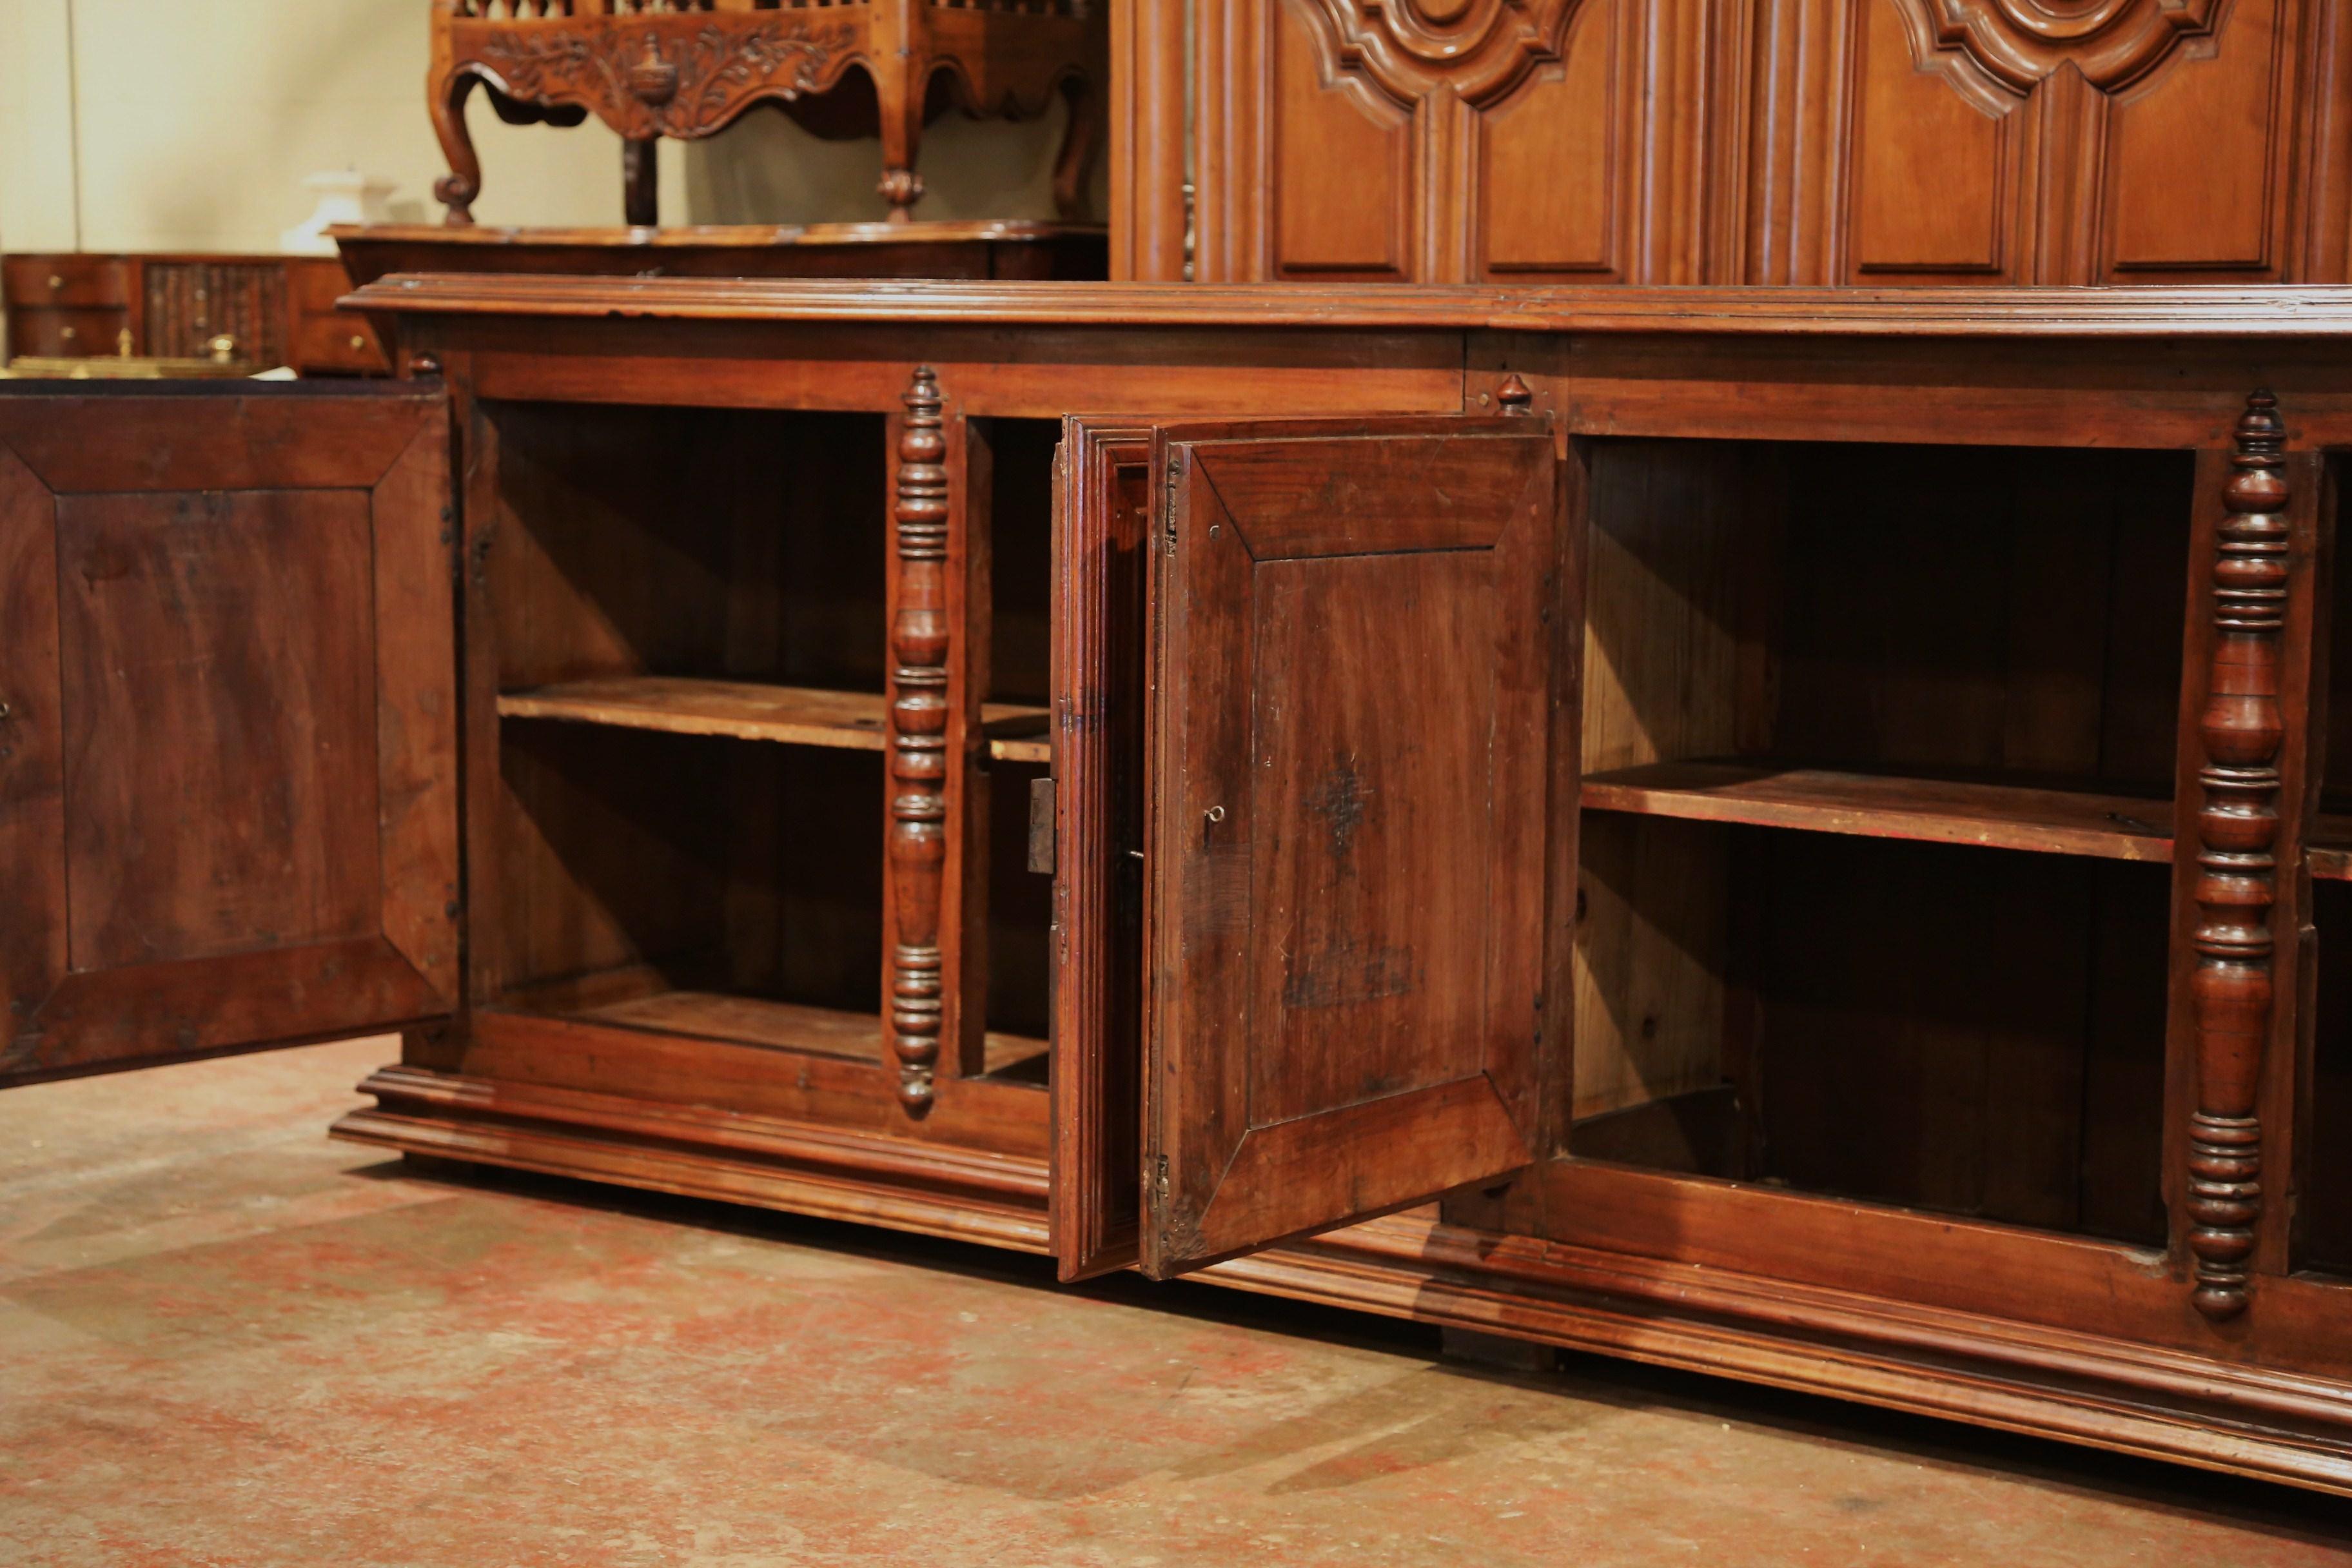
[[[499,717],[880,752],[889,729],[884,703],[877,691],[630,675],[501,691]],[[1051,743],[1044,733],[1049,719],[1047,708],[988,703],[981,710],[988,755],[1004,762],[1049,762]]]

